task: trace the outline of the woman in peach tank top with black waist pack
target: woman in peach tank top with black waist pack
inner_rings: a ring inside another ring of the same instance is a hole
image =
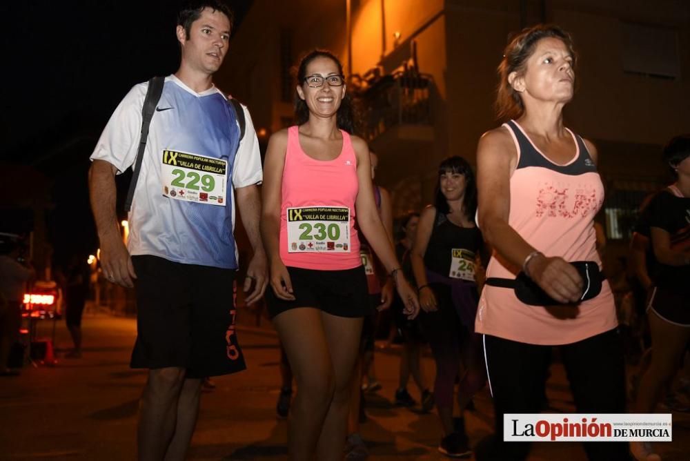
[[[604,200],[597,150],[562,119],[575,85],[571,37],[557,26],[522,30],[499,73],[506,124],[477,148],[478,222],[494,253],[475,320],[496,426],[476,458],[524,460],[529,442],[502,442],[503,415],[540,412],[553,346],[578,413],[624,413],[624,364],[596,251],[593,219]],[[570,264],[577,261],[584,272]],[[629,459],[624,442],[584,449],[590,460]]]

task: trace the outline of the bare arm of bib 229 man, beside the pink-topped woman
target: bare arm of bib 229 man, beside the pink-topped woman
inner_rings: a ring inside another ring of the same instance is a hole
[[[243,290],[247,293],[252,281],[254,291],[246,297],[247,304],[254,304],[264,295],[268,277],[266,276],[266,252],[262,244],[259,233],[259,217],[261,215],[261,197],[259,197],[259,186],[253,184],[235,190],[237,196],[237,209],[242,216],[242,225],[249,237],[254,255],[247,268],[247,278],[244,280]]]

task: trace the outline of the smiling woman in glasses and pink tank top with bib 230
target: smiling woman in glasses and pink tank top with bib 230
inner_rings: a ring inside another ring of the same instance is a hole
[[[374,202],[366,143],[351,136],[342,65],[315,50],[297,70],[297,125],[270,137],[261,233],[270,262],[268,312],[297,380],[288,426],[291,460],[340,460],[350,382],[368,313],[359,229],[405,301],[417,295],[400,273]]]

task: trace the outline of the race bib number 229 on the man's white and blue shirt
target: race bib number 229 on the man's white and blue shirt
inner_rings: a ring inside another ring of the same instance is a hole
[[[225,160],[164,150],[161,158],[163,195],[186,202],[225,206],[227,170]]]

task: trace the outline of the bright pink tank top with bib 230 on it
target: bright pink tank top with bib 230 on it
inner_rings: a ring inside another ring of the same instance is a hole
[[[340,155],[322,161],[304,153],[299,127],[288,128],[279,243],[286,266],[340,271],[362,265],[355,230],[357,157],[350,135],[341,133]]]

